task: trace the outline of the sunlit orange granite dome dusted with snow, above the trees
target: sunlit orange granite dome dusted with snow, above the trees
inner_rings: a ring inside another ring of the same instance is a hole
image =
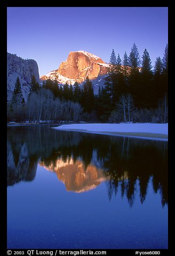
[[[100,57],[85,51],[70,52],[66,61],[63,61],[57,70],[53,70],[41,77],[57,79],[59,83],[83,82],[88,76],[90,80],[103,76],[108,72],[108,64]]]

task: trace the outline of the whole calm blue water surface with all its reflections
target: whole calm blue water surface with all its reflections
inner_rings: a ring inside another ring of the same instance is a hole
[[[7,128],[8,248],[168,248],[168,142]]]

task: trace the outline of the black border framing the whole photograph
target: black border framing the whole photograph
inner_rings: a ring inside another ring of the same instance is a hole
[[[3,3],[2,3],[3,2]],[[71,2],[72,3],[72,2]],[[113,2],[112,2],[113,3]],[[134,6],[131,6],[131,3],[134,5]],[[14,6],[15,4],[15,6]],[[27,5],[26,5],[27,4]],[[58,2],[57,2],[58,4]],[[69,2],[67,2],[67,4],[69,4]],[[87,4],[87,2],[85,2],[85,4]],[[90,4],[90,3],[89,3]],[[171,51],[171,41],[172,41],[172,38],[171,38],[171,35],[173,35],[172,32],[172,22],[173,22],[173,8],[172,8],[172,1],[163,1],[162,3],[158,2],[157,3],[155,1],[147,1],[146,3],[141,3],[140,1],[136,2],[134,1],[133,2],[129,2],[126,3],[126,6],[124,6],[123,2],[120,1],[120,3],[117,5],[117,6],[113,6],[113,5],[110,5],[110,6],[98,6],[98,4],[96,3],[95,6],[91,5],[90,6],[87,6],[87,7],[168,7],[168,10],[169,10],[169,42],[168,42],[168,45],[169,45],[169,52],[172,53]],[[142,4],[142,5],[141,5]],[[3,140],[3,144],[2,144],[2,153],[4,154],[4,157],[3,157],[3,154],[2,155],[2,162],[3,162],[3,168],[1,168],[1,173],[2,173],[2,179],[0,179],[1,181],[1,210],[0,210],[0,214],[1,214],[1,226],[0,226],[0,232],[1,232],[1,247],[0,247],[0,252],[4,252],[2,255],[7,255],[6,254],[6,250],[7,250],[7,194],[6,194],[6,161],[4,159],[5,156],[6,156],[6,139],[5,139],[5,134],[6,134],[6,112],[4,110],[4,108],[6,109],[6,86],[5,86],[5,82],[4,82],[4,73],[5,73],[5,77],[6,77],[6,69],[7,69],[7,60],[6,60],[6,57],[7,57],[7,7],[85,7],[85,6],[82,6],[82,2],[80,4],[78,4],[77,6],[56,6],[56,5],[53,5],[53,6],[44,6],[44,5],[39,5],[37,4],[36,2],[32,3],[32,1],[29,1],[28,3],[27,2],[22,2],[22,3],[19,3],[17,1],[2,1],[0,2],[0,17],[1,17],[1,93],[0,93],[0,102],[2,104],[1,106],[1,117],[3,117],[3,119],[1,119],[1,130],[3,133],[1,133],[1,140]],[[149,18],[149,17],[148,17]],[[3,46],[2,46],[3,45]],[[154,249],[154,250],[151,250],[151,249],[145,249],[145,250],[142,250],[142,249],[111,249],[111,250],[105,250],[105,249],[97,249],[98,251],[106,251],[106,255],[109,255],[109,253],[113,253],[113,252],[116,252],[118,253],[118,255],[123,255],[127,253],[127,255],[135,255],[135,251],[145,251],[145,252],[149,252],[149,251],[160,251],[161,254],[159,255],[171,255],[171,251],[173,249],[173,244],[172,244],[172,239],[173,239],[173,226],[172,226],[172,198],[173,198],[173,195],[171,194],[171,188],[172,188],[172,173],[173,173],[173,168],[171,168],[171,154],[173,152],[173,143],[172,143],[172,129],[173,129],[173,124],[172,124],[172,120],[173,120],[173,106],[171,106],[172,104],[172,97],[173,97],[173,91],[172,91],[172,88],[174,87],[173,85],[173,81],[171,80],[171,58],[172,58],[172,54],[169,54],[169,248],[168,250],[159,250],[159,249]],[[6,81],[6,79],[5,79]],[[3,136],[2,136],[3,135]],[[172,165],[173,166],[173,165]],[[2,214],[3,213],[3,214]],[[32,250],[32,249],[30,249]],[[40,250],[40,249],[38,249]],[[48,248],[48,250],[50,250]],[[58,249],[59,250],[59,249]],[[85,250],[85,249],[82,249],[82,250]],[[14,250],[12,250],[14,251]],[[25,255],[28,255],[27,254],[27,250],[18,250],[18,251],[24,251],[25,252]],[[36,250],[35,250],[36,251]],[[41,249],[40,251],[45,251],[43,249]],[[55,251],[55,250],[50,250],[50,251]],[[70,251],[70,250],[66,250],[64,249],[63,251]],[[73,251],[80,251],[80,250],[73,250]],[[87,251],[89,251],[89,249],[87,249]],[[94,251],[94,250],[91,250],[91,251]],[[13,253],[12,253],[13,255]],[[34,254],[35,255],[35,254]],[[58,254],[57,254],[58,255]],[[145,254],[147,255],[147,254]],[[153,255],[153,254],[152,254]],[[155,254],[154,254],[155,255]]]

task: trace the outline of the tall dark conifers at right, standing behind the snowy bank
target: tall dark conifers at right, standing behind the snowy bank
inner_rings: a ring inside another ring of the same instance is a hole
[[[142,61],[135,44],[122,61],[112,49],[98,115],[110,122],[168,122],[168,44],[152,68],[147,49]]]

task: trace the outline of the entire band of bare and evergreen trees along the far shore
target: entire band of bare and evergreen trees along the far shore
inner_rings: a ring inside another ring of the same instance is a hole
[[[154,67],[147,49],[140,60],[134,44],[131,53],[109,61],[102,88],[94,94],[92,81],[83,84],[58,84],[48,79],[42,86],[32,77],[25,102],[19,77],[12,99],[7,103],[7,120],[40,122],[68,120],[78,122],[168,122],[168,44],[164,56],[156,58]]]

